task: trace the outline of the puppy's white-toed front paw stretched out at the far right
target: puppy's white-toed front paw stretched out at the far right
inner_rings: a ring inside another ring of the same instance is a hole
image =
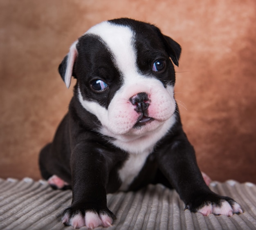
[[[189,209],[191,212],[200,212],[204,216],[208,216],[211,213],[225,216],[243,213],[242,208],[236,201],[230,197],[221,197],[215,193],[207,196],[202,195],[201,201],[200,198],[195,199],[189,202],[185,209]]]

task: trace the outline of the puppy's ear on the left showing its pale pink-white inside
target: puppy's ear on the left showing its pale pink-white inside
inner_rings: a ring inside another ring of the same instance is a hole
[[[74,42],[70,46],[70,52],[64,57],[63,61],[58,66],[58,72],[60,73],[61,78],[65,82],[67,88],[70,87],[71,78],[73,75],[73,67],[77,57],[77,42],[78,41]]]

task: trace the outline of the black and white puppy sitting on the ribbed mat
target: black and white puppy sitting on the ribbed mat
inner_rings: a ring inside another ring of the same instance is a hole
[[[205,184],[174,99],[181,47],[144,22],[121,18],[89,29],[59,66],[67,88],[77,79],[54,141],[40,153],[43,178],[72,187],[62,217],[74,228],[108,227],[106,194],[148,183],[175,188],[202,215],[243,212]]]

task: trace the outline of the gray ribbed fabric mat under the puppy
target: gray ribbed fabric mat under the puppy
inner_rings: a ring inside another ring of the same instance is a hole
[[[138,192],[108,195],[108,207],[117,216],[108,230],[256,229],[256,185],[213,182],[211,189],[235,199],[244,213],[232,217],[212,214],[204,217],[184,211],[184,203],[174,190],[149,185]],[[73,229],[59,221],[71,199],[70,190],[52,190],[45,181],[0,179],[0,229]]]

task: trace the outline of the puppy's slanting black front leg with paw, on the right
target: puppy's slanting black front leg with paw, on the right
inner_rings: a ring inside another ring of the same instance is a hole
[[[166,137],[162,149],[159,149],[158,163],[162,173],[177,190],[186,209],[207,216],[231,216],[242,213],[240,205],[229,197],[212,192],[205,184],[195,159],[193,146],[189,143],[182,128],[174,137]]]

